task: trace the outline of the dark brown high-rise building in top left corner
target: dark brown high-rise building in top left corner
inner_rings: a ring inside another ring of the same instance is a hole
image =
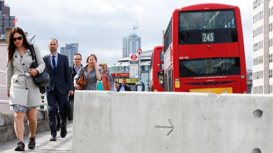
[[[0,34],[5,34],[5,27],[15,27],[15,16],[10,16],[10,7],[0,0]]]

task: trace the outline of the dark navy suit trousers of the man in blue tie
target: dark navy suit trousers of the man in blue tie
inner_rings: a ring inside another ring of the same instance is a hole
[[[49,126],[51,130],[51,136],[56,136],[56,103],[59,109],[59,115],[61,119],[61,127],[66,127],[66,108],[67,108],[67,99],[68,95],[61,95],[58,91],[57,87],[54,87],[52,92],[47,93],[47,105],[48,105],[48,118],[49,118]]]

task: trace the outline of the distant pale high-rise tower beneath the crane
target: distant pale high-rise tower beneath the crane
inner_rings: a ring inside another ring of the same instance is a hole
[[[122,58],[128,57],[132,53],[137,53],[141,48],[141,38],[136,33],[131,33],[122,39]]]

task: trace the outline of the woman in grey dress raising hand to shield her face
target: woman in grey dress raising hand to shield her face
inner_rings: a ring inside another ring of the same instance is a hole
[[[88,64],[87,64],[88,63]],[[74,77],[74,87],[76,90],[97,90],[97,80],[101,81],[102,72],[101,69],[97,67],[97,57],[95,54],[87,56],[86,66],[83,67],[83,73],[85,74],[86,86],[80,87],[77,85],[78,79],[82,74],[82,69],[80,69],[77,75]]]

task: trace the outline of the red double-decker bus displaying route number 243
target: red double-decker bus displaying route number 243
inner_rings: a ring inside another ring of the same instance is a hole
[[[247,92],[239,7],[206,3],[174,10],[163,50],[165,91]]]

